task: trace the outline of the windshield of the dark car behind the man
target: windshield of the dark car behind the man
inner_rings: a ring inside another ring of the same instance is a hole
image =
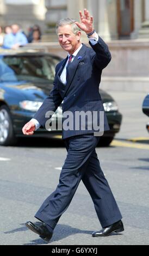
[[[0,80],[7,81],[54,81],[55,66],[59,58],[48,55],[0,57]]]

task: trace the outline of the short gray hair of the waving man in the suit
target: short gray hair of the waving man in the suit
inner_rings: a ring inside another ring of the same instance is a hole
[[[76,20],[74,19],[70,19],[70,18],[65,18],[65,19],[61,19],[57,22],[56,25],[56,32],[58,33],[58,28],[65,26],[65,25],[71,25],[72,27],[72,32],[74,34],[77,34],[78,31],[80,31],[80,28],[76,25]]]

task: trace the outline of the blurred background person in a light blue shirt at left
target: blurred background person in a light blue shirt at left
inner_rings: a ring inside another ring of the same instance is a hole
[[[3,48],[17,49],[20,46],[24,46],[28,43],[26,35],[20,31],[20,27],[17,24],[11,26],[12,33],[4,36]]]

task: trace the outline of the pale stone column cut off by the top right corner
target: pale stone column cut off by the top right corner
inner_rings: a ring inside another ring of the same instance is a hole
[[[149,38],[149,1],[148,0],[144,0],[144,21],[141,24],[141,29],[139,31],[139,38]]]

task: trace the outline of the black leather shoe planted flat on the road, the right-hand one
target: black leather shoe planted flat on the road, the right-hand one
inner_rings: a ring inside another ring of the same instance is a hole
[[[108,227],[101,229],[100,231],[95,231],[94,233],[92,233],[92,236],[108,236],[111,233],[119,233],[122,232],[123,230],[124,228],[122,221],[117,221],[109,225]]]

